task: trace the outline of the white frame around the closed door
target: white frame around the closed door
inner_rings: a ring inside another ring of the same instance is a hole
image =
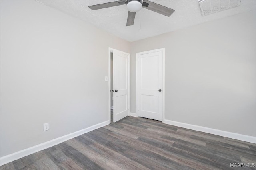
[[[150,50],[150,51],[143,51],[143,52],[140,52],[140,53],[136,53],[136,117],[139,117],[139,113],[138,113],[138,106],[139,106],[139,96],[138,96],[138,58],[139,58],[139,55],[142,55],[142,54],[148,54],[148,53],[155,53],[155,52],[158,52],[158,51],[162,51],[162,55],[163,55],[163,114],[162,114],[162,122],[164,123],[164,108],[165,108],[165,48],[162,48],[162,49],[155,49],[155,50]],[[130,112],[129,112],[130,114]]]

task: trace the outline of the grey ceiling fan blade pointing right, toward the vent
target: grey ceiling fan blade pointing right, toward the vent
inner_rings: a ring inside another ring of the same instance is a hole
[[[160,4],[156,4],[154,2],[148,1],[148,0],[143,0],[142,4],[143,8],[146,8],[148,10],[157,12],[159,14],[165,15],[165,16],[170,16],[172,13],[174,13],[175,10],[168,8],[166,6],[162,6]]]

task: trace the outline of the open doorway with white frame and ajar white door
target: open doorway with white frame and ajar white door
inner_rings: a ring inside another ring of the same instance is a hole
[[[109,123],[130,115],[130,54],[109,48]]]

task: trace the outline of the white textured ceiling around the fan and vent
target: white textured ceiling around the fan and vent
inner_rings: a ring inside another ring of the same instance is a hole
[[[175,10],[175,12],[170,17],[166,17],[142,8],[140,12],[136,13],[134,25],[126,27],[128,13],[126,5],[94,11],[88,8],[90,5],[112,1],[40,0],[41,3],[47,6],[80,18],[81,20],[89,22],[96,27],[99,27],[130,42],[175,31],[192,25],[197,25],[207,21],[217,20],[227,16],[255,10],[256,8],[255,0],[242,0],[241,5],[238,7],[207,16],[202,16],[198,0],[151,0],[152,2],[172,8]]]

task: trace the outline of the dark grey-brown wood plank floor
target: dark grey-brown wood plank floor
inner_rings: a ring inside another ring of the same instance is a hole
[[[15,160],[1,170],[213,170],[256,163],[256,145],[142,117],[126,117]]]

